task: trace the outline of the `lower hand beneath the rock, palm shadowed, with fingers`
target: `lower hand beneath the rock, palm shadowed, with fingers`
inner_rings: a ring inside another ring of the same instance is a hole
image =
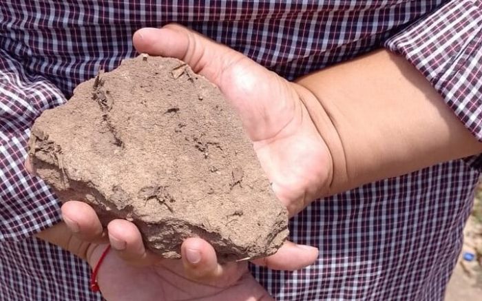
[[[38,237],[85,258],[93,269],[107,246],[105,242],[110,242],[112,249],[98,270],[98,286],[106,300],[273,300],[251,276],[247,262],[218,264],[216,252],[205,240],[185,240],[182,260],[167,260],[145,249],[132,222],[113,220],[104,231],[94,209],[77,201],[65,203],[62,214],[65,224]],[[295,270],[312,264],[317,255],[316,248],[286,242],[261,263],[273,269]]]

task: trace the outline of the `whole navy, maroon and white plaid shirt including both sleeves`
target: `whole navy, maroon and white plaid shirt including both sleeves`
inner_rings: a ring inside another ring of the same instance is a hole
[[[481,0],[1,0],[1,300],[101,300],[85,262],[33,237],[61,218],[23,168],[29,128],[99,67],[135,56],[136,29],[171,21],[287,79],[386,47],[482,140]],[[317,262],[251,271],[277,300],[441,300],[481,166],[453,160],[317,201],[290,221],[292,240],[319,247]]]

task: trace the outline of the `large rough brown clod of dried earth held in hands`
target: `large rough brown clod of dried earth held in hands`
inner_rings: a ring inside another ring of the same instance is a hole
[[[30,156],[61,200],[85,200],[104,225],[132,220],[166,258],[192,236],[221,262],[257,258],[288,235],[240,119],[177,59],[139,56],[82,83],[35,121]]]

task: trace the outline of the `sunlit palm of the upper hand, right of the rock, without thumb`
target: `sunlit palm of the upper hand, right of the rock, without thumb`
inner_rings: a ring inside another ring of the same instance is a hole
[[[244,127],[273,190],[293,215],[324,187],[328,149],[295,83],[253,65],[245,59],[224,70],[220,89],[242,112]]]

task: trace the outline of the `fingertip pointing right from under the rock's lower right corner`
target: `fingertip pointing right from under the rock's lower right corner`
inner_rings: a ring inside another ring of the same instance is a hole
[[[317,258],[317,248],[287,241],[274,255],[251,260],[251,262],[270,269],[294,271],[308,267]]]

